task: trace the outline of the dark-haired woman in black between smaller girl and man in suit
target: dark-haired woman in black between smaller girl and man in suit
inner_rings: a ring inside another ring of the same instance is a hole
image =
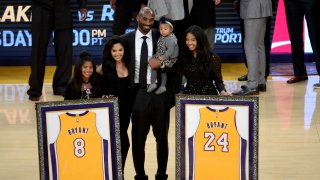
[[[130,58],[125,50],[125,43],[121,37],[113,36],[105,44],[102,56],[102,72],[106,84],[106,95],[118,97],[119,102],[123,170],[130,146],[127,130],[132,110],[132,91],[128,72]]]

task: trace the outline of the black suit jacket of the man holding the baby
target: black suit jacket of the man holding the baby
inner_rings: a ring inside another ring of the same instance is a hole
[[[130,64],[129,64],[129,75],[130,75],[130,85],[131,87],[134,87],[134,75],[135,75],[135,63],[136,63],[136,52],[135,52],[135,36],[136,31],[132,31],[130,33],[124,34],[121,37],[126,42],[126,53],[130,53]],[[157,50],[157,41],[160,37],[160,33],[156,29],[152,29],[152,43],[153,43],[153,52],[152,54],[156,53]],[[168,102],[167,105],[169,107],[173,107],[175,104],[175,98],[174,98],[174,86],[175,86],[175,77],[173,72],[167,71],[167,98],[166,101]],[[158,76],[159,77],[159,76]],[[134,88],[132,88],[134,90]]]

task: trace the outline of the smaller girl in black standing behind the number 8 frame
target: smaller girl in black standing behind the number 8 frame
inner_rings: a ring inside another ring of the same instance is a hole
[[[72,81],[66,89],[65,100],[103,96],[101,76],[96,72],[96,65],[91,54],[86,51],[80,53],[80,60],[75,64],[73,73]]]

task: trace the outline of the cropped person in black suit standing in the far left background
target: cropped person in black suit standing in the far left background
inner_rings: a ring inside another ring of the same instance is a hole
[[[78,0],[81,20],[87,18],[86,0]],[[70,0],[32,0],[32,49],[29,99],[38,101],[46,66],[47,48],[52,32],[57,69],[53,77],[53,93],[64,95],[72,74],[72,14]]]

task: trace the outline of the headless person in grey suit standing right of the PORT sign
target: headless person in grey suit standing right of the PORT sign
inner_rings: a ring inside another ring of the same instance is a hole
[[[260,8],[256,8],[260,7]],[[244,50],[248,64],[247,85],[235,95],[256,95],[266,90],[264,36],[267,18],[272,15],[271,0],[241,0],[240,17],[244,22]]]

